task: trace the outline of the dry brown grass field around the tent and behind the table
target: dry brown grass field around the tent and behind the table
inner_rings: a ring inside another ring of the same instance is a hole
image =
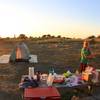
[[[0,40],[0,55],[11,53],[19,41]],[[77,40],[36,40],[25,41],[32,54],[38,55],[38,64],[15,63],[0,64],[0,100],[21,100],[18,83],[21,75],[28,73],[28,67],[48,72],[53,66],[58,73],[64,72],[67,67],[73,71],[79,67],[80,49],[82,41]],[[100,43],[92,44],[93,52],[97,57],[91,61],[94,67],[100,66]]]

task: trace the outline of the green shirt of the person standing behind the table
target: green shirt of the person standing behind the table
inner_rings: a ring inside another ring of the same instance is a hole
[[[87,56],[91,55],[89,48],[82,48],[81,49],[81,63],[88,64]]]

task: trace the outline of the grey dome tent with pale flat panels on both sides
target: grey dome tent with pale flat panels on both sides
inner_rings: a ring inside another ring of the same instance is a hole
[[[38,63],[37,55],[29,53],[29,49],[24,43],[16,45],[11,54],[4,54],[0,56],[0,63],[15,63],[15,62],[29,62]]]

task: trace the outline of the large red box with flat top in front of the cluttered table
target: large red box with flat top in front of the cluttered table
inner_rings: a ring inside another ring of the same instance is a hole
[[[37,87],[25,89],[24,100],[61,100],[61,97],[55,87]]]

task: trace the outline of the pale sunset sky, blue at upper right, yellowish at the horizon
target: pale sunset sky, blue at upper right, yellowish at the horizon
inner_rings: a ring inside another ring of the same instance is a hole
[[[100,0],[0,0],[0,36],[100,35]]]

